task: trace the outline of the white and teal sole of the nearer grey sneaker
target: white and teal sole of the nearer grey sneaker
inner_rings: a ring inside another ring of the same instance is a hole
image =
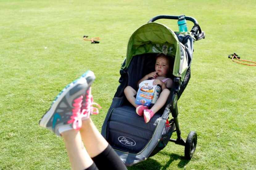
[[[86,71],[80,78],[74,80],[72,83],[69,83],[52,102],[52,106],[50,107],[50,109],[43,115],[43,117],[39,121],[39,126],[47,128],[46,125],[51,119],[52,115],[55,113],[56,107],[58,106],[61,99],[63,99],[63,97],[68,93],[69,90],[71,90],[77,84],[82,83],[81,81],[85,81],[85,83],[87,83],[86,78],[89,76],[95,77],[92,71]]]

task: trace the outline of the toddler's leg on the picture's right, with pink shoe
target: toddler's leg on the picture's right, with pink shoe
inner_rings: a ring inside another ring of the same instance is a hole
[[[144,110],[144,120],[146,123],[148,123],[154,114],[163,107],[168,99],[169,94],[170,91],[168,89],[163,89],[154,106],[151,107],[151,109]]]

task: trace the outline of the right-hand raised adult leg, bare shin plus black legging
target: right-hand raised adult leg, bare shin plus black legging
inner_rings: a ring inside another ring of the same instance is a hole
[[[82,121],[80,133],[89,155],[99,169],[127,170],[117,153],[97,130],[91,118]]]

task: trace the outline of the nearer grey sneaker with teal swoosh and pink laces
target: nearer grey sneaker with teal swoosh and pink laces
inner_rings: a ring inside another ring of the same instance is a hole
[[[81,114],[82,102],[94,79],[94,73],[86,71],[79,79],[68,84],[52,102],[39,125],[53,131],[57,136],[67,130],[80,129],[81,119],[84,117]]]

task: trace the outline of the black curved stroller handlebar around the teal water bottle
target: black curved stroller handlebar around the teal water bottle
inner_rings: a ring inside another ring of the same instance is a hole
[[[158,15],[158,16],[153,17],[147,23],[151,23],[151,22],[154,22],[154,21],[159,20],[159,19],[175,19],[175,20],[178,20],[179,16],[174,16],[174,15]],[[196,21],[196,19],[193,18],[193,17],[188,17],[188,16],[185,16],[185,19],[188,20],[188,21],[192,21],[194,23],[194,26],[193,26],[193,28],[191,29],[190,32],[192,32],[194,34],[194,36],[196,37],[196,40],[203,39],[204,38],[204,32],[202,32],[202,30],[201,30],[198,22]]]

